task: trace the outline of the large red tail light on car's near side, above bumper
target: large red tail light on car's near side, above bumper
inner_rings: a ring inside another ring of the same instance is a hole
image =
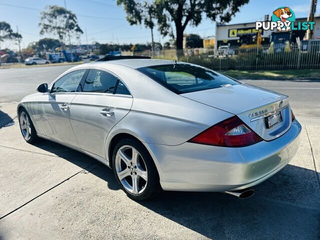
[[[215,146],[248,146],[261,141],[240,118],[232,116],[194,136],[189,142]]]

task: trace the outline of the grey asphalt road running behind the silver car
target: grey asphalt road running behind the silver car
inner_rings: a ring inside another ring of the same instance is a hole
[[[35,87],[38,84],[50,83],[70,67],[72,66],[0,69],[0,102],[18,102],[23,96],[35,92]],[[310,118],[308,124],[319,125],[320,79],[242,80],[242,82],[288,95],[296,116]]]

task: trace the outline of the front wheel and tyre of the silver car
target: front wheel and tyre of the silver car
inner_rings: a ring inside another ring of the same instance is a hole
[[[19,126],[21,134],[27,143],[34,143],[38,140],[36,130],[31,121],[29,114],[23,108],[19,111]]]

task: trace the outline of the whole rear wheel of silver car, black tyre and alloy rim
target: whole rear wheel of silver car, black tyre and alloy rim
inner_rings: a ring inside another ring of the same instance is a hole
[[[149,199],[162,190],[153,159],[138,140],[121,139],[115,145],[112,168],[122,190],[133,200]]]

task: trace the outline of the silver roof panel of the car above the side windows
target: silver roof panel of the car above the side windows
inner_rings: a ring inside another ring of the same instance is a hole
[[[89,64],[94,66],[94,64],[101,64],[103,62],[128,66],[134,69],[139,67],[145,67],[145,66],[173,64],[173,60],[162,60],[162,59],[118,59],[118,60],[109,60],[109,61],[94,61]]]

